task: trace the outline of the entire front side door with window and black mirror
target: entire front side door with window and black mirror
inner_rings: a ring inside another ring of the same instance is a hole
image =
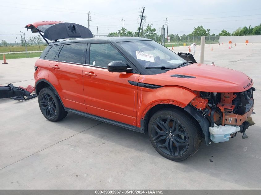
[[[140,75],[107,70],[112,61],[127,62],[111,44],[91,43],[89,51],[90,64],[82,72],[88,113],[136,126],[138,89],[128,81],[138,82]]]

